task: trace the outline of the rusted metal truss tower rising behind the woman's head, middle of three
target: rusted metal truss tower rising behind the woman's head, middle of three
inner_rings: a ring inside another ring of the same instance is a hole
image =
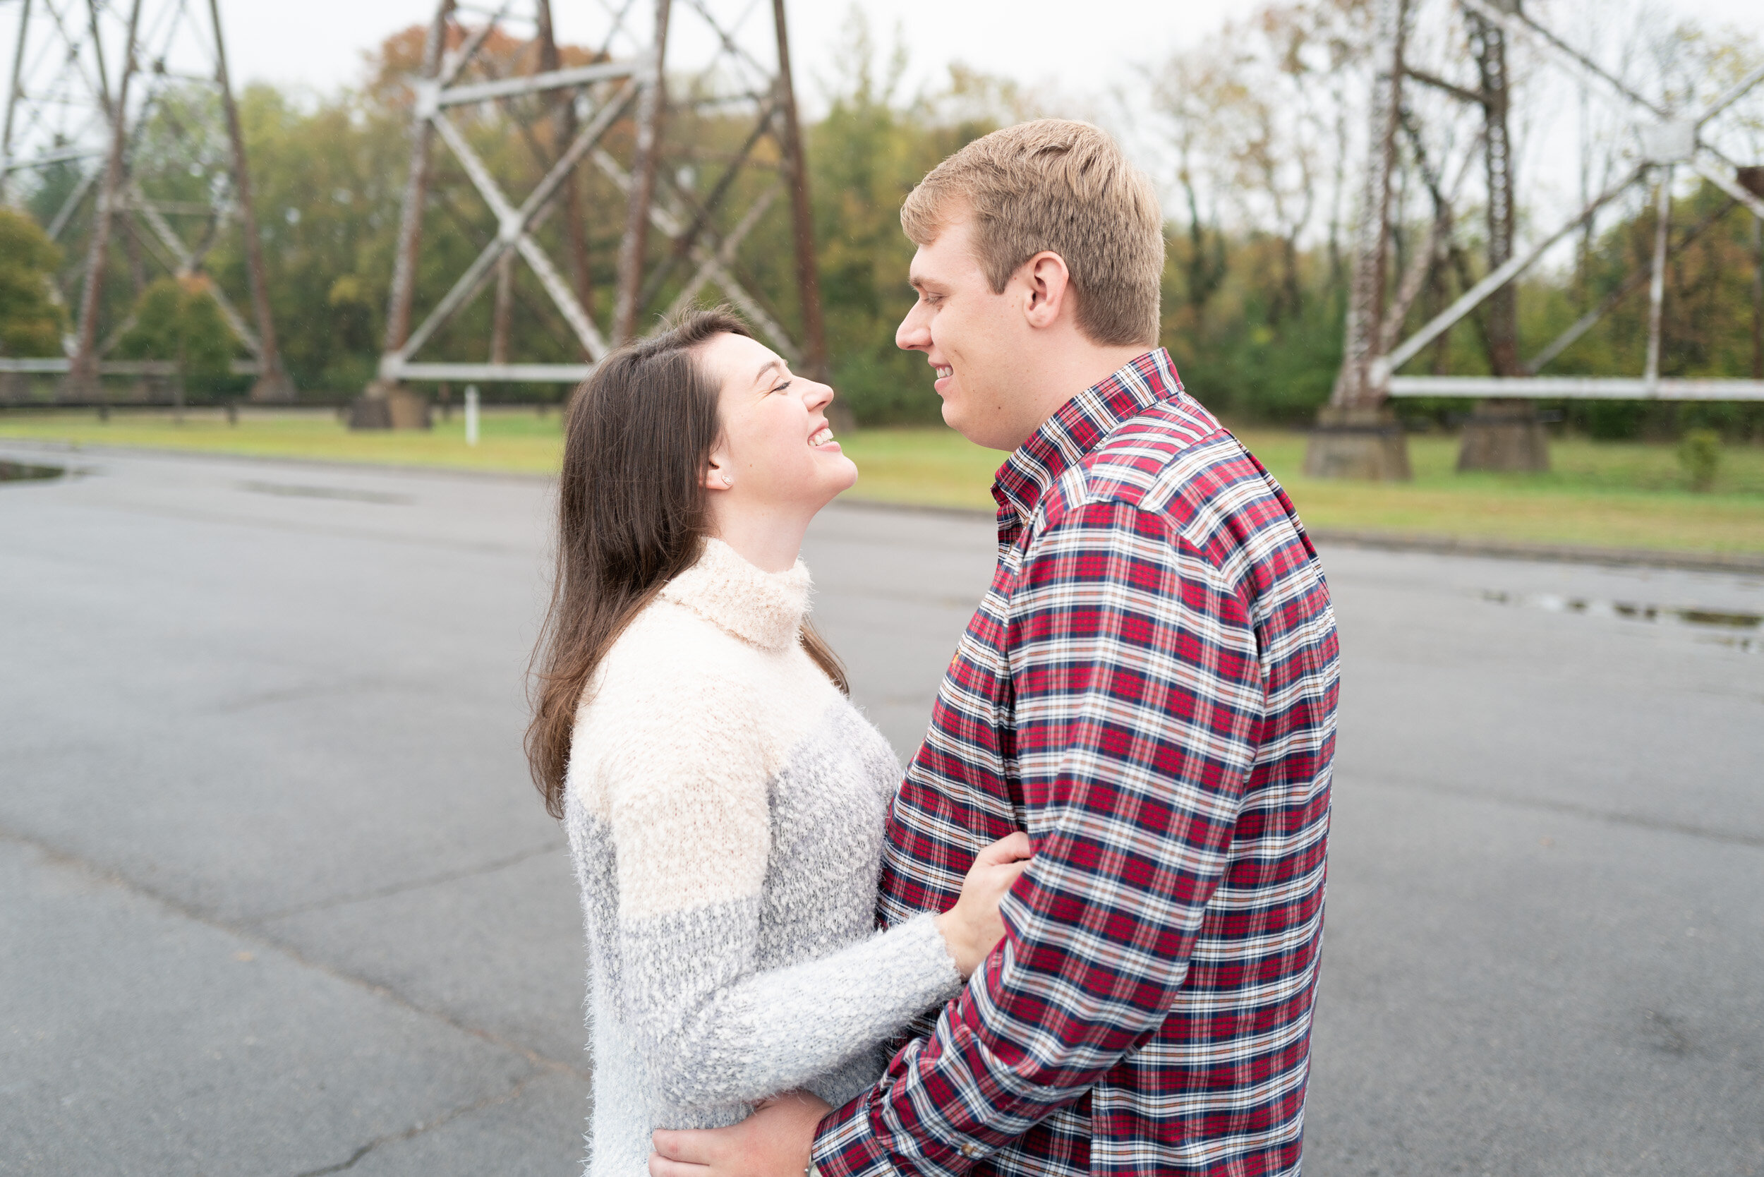
[[[792,364],[824,369],[783,0],[600,0],[582,9],[598,28],[586,51],[566,51],[549,0],[437,4],[413,81],[399,252],[369,397],[407,379],[575,383],[619,341],[711,291]],[[767,35],[755,35],[762,21]],[[580,41],[579,30],[570,34]],[[686,60],[695,49],[704,56]],[[522,168],[540,173],[526,194],[512,192],[510,173],[520,169],[512,157],[503,152],[501,166],[492,157],[512,141],[527,148]],[[743,245],[780,205],[792,222],[797,332],[743,259]],[[423,221],[436,208],[476,224],[480,242],[418,319]],[[561,224],[542,235],[547,222]],[[596,307],[594,275],[612,259],[612,300]],[[527,309],[563,325],[573,360],[510,356],[517,259],[543,293]],[[460,328],[460,312],[485,291],[494,300],[487,339],[482,321],[476,335]],[[482,360],[462,358],[467,348]],[[425,358],[425,349],[452,355]]]

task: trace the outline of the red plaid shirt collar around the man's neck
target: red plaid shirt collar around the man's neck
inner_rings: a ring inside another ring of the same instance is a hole
[[[1060,406],[1028,441],[1016,448],[993,480],[1000,526],[1027,524],[1035,505],[1060,475],[1094,450],[1122,422],[1182,394],[1182,378],[1170,353],[1154,348],[1115,374]]]

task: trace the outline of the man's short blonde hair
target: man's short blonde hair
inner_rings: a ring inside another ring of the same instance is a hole
[[[993,293],[1051,251],[1065,259],[1087,339],[1157,346],[1164,219],[1152,182],[1108,132],[1065,118],[993,131],[933,168],[907,196],[900,222],[930,245],[965,212]]]

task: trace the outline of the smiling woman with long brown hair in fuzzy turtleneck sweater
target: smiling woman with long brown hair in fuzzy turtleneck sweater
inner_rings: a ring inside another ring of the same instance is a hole
[[[607,356],[570,409],[527,755],[582,889],[594,1175],[647,1172],[656,1128],[864,1091],[998,941],[1028,851],[995,843],[949,912],[875,930],[900,764],[797,559],[857,478],[831,401],[709,311]]]

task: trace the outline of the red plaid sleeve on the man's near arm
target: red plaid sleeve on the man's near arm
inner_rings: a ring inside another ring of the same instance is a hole
[[[1170,522],[1088,503],[1009,603],[1034,861],[1005,937],[928,1038],[822,1121],[822,1177],[961,1173],[1076,1101],[1170,1015],[1256,759],[1249,611]]]

